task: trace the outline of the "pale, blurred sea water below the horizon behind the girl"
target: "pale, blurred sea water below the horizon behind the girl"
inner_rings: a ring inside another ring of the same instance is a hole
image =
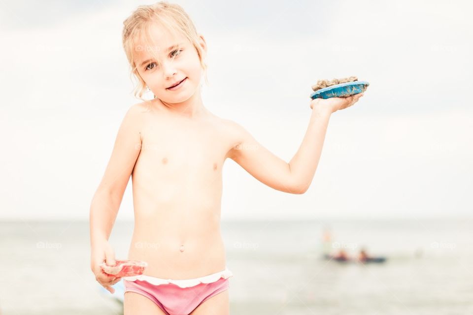
[[[331,242],[323,242],[325,229]],[[230,313],[473,314],[473,220],[223,221]],[[110,243],[126,258],[133,222]],[[340,263],[324,251],[382,264]],[[88,221],[0,222],[0,314],[122,314],[90,271]]]

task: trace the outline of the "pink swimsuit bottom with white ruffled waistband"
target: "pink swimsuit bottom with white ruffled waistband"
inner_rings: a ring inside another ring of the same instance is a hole
[[[233,274],[225,268],[208,276],[171,280],[147,275],[123,277],[125,292],[135,292],[153,301],[167,315],[188,315],[204,301],[229,288]]]

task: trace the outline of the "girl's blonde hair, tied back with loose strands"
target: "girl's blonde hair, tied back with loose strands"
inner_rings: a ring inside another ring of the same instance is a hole
[[[173,35],[181,34],[185,36],[194,45],[205,73],[205,83],[208,85],[207,64],[203,59],[204,52],[202,46],[199,44],[199,35],[197,34],[194,23],[180,5],[169,3],[168,1],[159,1],[150,5],[138,6],[136,10],[123,21],[122,40],[123,48],[125,49],[125,54],[127,55],[131,67],[130,77],[135,76],[138,80],[138,84],[134,89],[135,97],[143,99],[141,96],[146,91],[146,83],[139,75],[135,64],[134,52],[137,48],[135,46],[135,40],[141,38],[141,35],[149,39],[148,30],[153,23],[162,25]],[[154,98],[156,98],[156,95]]]

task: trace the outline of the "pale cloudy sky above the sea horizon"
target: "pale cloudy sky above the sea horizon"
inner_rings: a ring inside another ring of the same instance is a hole
[[[203,102],[278,157],[298,150],[311,85],[356,75],[303,195],[233,160],[222,219],[471,217],[469,1],[175,1],[208,45]],[[133,94],[123,20],[149,1],[2,1],[0,219],[89,218]],[[257,84],[255,84],[257,82]],[[118,220],[133,219],[131,181]]]

